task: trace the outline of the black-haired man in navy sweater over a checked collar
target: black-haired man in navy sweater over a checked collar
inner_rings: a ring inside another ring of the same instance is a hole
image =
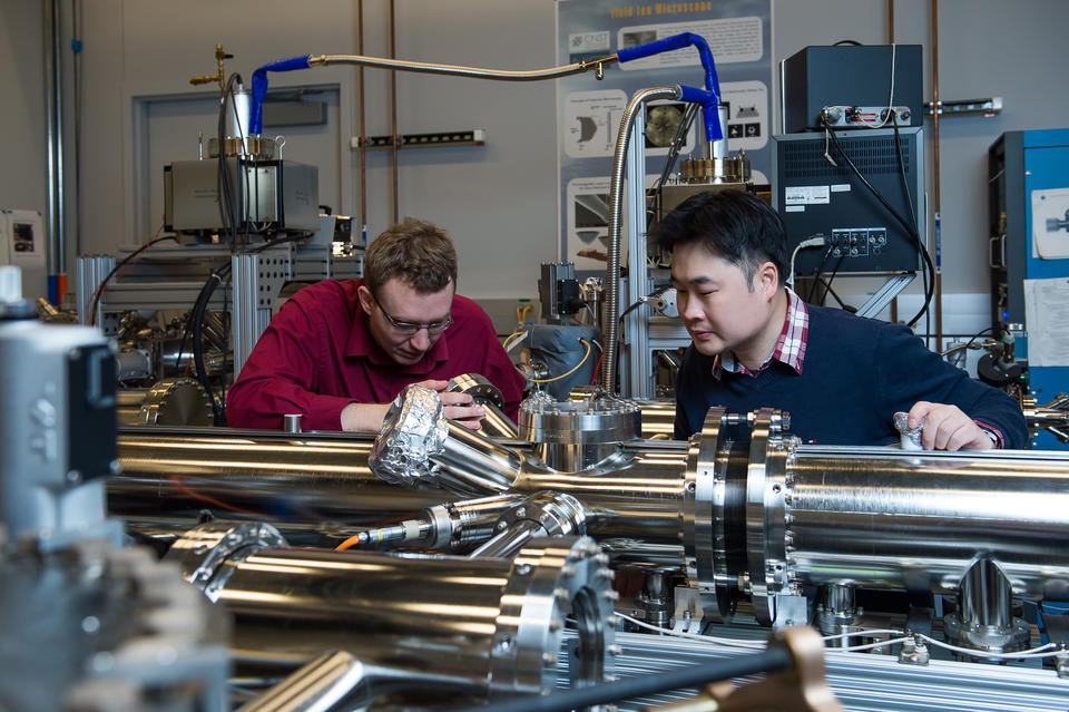
[[[783,222],[739,191],[702,193],[661,221],[679,316],[694,342],[676,386],[676,438],[712,406],[791,413],[803,442],[898,441],[893,416],[923,423],[926,449],[1024,448],[1020,407],[928,350],[906,328],[805,304],[784,284]],[[741,433],[736,433],[741,435]]]

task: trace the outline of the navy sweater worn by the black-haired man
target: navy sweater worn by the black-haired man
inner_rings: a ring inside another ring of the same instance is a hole
[[[1012,398],[971,380],[905,326],[806,306],[810,326],[802,373],[773,361],[756,377],[725,371],[717,381],[714,358],[693,345],[687,350],[676,384],[677,439],[699,431],[709,407],[723,406],[728,412],[786,411],[790,431],[807,443],[885,445],[899,440],[894,412],[926,400],[958,406],[979,423],[999,430],[1003,447],[1028,447],[1024,417]],[[729,435],[748,439],[741,430]]]

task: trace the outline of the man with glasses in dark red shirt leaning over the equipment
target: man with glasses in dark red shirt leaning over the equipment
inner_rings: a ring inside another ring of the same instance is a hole
[[[483,409],[443,392],[479,373],[516,419],[523,377],[490,318],[457,289],[457,252],[434,225],[406,218],[367,248],[363,280],[324,280],[297,292],[272,320],[227,394],[235,428],[376,431],[410,383],[441,393],[445,417],[478,429]]]

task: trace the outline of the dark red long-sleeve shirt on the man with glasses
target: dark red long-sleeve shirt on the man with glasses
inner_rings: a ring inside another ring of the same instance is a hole
[[[259,338],[226,399],[235,428],[278,430],[301,413],[305,430],[340,430],[351,402],[385,403],[409,383],[479,373],[501,390],[513,420],[523,377],[501,348],[490,318],[454,295],[453,323],[413,365],[391,359],[371,337],[356,287],[362,280],[324,280],[293,295]]]

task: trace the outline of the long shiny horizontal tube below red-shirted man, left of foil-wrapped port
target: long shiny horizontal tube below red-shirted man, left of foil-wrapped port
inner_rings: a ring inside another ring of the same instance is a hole
[[[271,521],[296,540],[300,533],[344,537],[455,499],[382,481],[367,468],[371,445],[360,435],[120,429],[122,472],[107,484],[108,511],[135,525],[185,529],[210,510]]]

